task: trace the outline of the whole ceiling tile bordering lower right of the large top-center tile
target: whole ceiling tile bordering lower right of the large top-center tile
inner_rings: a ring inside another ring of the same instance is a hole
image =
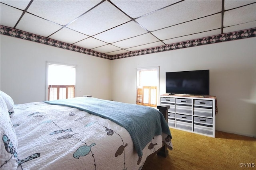
[[[105,41],[107,43],[114,43],[116,41],[141,35],[147,32],[148,31],[140,27],[134,21],[130,21],[128,23],[125,23],[123,25],[110,29],[108,31],[105,31],[93,37],[97,39],[101,39],[102,41]]]

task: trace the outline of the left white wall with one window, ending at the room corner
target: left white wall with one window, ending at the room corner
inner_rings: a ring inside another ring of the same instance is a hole
[[[75,96],[110,100],[110,60],[1,35],[0,89],[15,104],[46,100],[46,61],[76,65]]]

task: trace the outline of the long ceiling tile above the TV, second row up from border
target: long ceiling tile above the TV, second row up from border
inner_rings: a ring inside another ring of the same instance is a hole
[[[215,14],[198,20],[174,25],[165,29],[152,32],[161,40],[200,33],[221,27],[221,14]]]

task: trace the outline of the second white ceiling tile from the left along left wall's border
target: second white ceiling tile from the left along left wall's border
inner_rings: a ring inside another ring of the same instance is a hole
[[[62,26],[56,23],[26,13],[21,18],[16,28],[29,33],[48,37],[61,27]]]

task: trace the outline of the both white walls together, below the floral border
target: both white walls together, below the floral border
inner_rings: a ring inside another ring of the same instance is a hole
[[[136,103],[136,68],[165,72],[210,69],[210,95],[218,99],[216,130],[256,136],[256,37],[107,60],[0,35],[0,90],[16,104],[45,100],[46,61],[77,65],[76,96]]]

